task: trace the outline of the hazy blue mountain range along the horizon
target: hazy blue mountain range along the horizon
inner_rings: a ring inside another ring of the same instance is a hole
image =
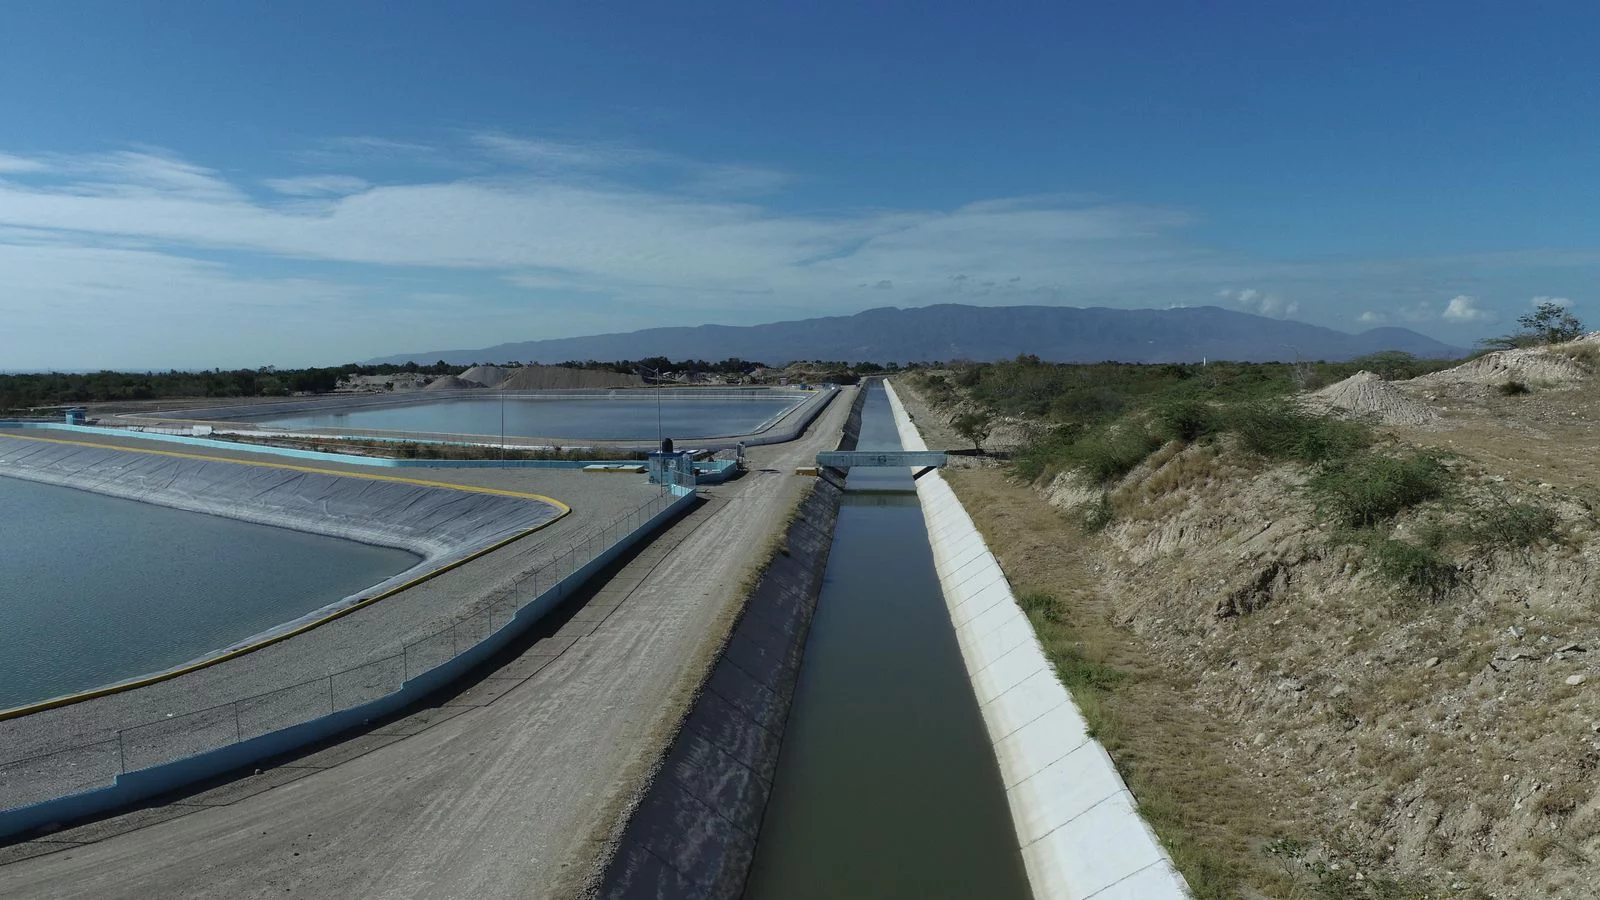
[[[424,351],[370,360],[565,362],[582,359],[797,359],[843,362],[995,360],[1037,354],[1050,362],[1346,360],[1378,351],[1459,357],[1467,351],[1408,328],[1349,335],[1216,306],[1078,309],[1070,306],[923,306],[869,309],[771,325],[646,328],[624,335],[522,341],[464,351]]]

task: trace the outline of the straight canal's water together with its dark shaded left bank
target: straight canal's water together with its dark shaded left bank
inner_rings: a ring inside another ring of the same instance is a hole
[[[840,450],[898,450],[885,394]],[[1029,897],[909,469],[824,471],[602,897]]]

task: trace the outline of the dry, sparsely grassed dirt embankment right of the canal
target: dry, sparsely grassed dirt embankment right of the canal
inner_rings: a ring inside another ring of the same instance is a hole
[[[1451,472],[1390,536],[1544,516],[1446,541],[1430,597],[1318,516],[1304,468],[1226,442],[1155,453],[1099,533],[1074,476],[952,472],[1019,591],[1059,597],[1080,655],[1120,673],[1078,701],[1197,895],[1600,895],[1600,380],[1578,357],[1582,378],[1453,392],[1384,432]]]

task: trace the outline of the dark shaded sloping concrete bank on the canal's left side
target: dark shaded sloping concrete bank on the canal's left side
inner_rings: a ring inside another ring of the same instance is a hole
[[[840,450],[861,436],[867,392],[851,405]],[[600,897],[733,900],[755,858],[789,706],[805,658],[843,487],[818,479],[746,601],[648,791],[629,818]]]

